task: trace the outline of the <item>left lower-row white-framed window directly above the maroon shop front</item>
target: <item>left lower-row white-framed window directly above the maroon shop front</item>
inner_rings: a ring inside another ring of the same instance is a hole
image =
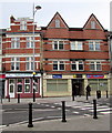
[[[11,70],[20,70],[20,58],[12,58],[11,59]]]

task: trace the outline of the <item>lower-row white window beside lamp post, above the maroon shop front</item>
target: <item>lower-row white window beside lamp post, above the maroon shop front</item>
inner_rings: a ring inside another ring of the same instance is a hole
[[[33,58],[32,57],[26,58],[26,70],[27,71],[33,70]]]

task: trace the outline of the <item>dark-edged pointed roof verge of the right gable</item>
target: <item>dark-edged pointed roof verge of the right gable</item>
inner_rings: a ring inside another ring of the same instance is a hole
[[[85,22],[83,29],[86,29],[86,27],[90,24],[90,21],[94,20],[96,22],[96,24],[99,25],[100,29],[104,30],[104,28],[102,27],[102,24],[100,23],[100,21],[96,19],[96,17],[92,13],[90,16],[90,18],[88,19],[88,21]]]

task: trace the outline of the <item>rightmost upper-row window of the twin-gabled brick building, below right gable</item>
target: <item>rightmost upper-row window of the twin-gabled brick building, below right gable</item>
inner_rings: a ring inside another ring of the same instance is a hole
[[[89,50],[99,51],[100,50],[100,42],[99,41],[90,41],[89,42]]]

